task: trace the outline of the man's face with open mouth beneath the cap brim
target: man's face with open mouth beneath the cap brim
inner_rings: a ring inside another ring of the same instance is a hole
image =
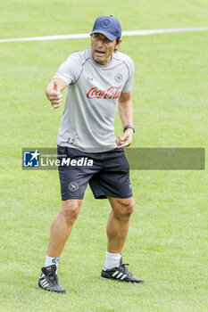
[[[93,34],[91,37],[91,51],[95,62],[100,65],[107,65],[112,59],[112,53],[121,45],[121,40],[116,44],[116,40],[110,41],[102,34]]]

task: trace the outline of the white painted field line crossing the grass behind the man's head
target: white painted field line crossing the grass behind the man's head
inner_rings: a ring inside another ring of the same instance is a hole
[[[146,36],[154,34],[166,34],[173,32],[186,32],[186,31],[203,31],[208,30],[208,27],[198,27],[189,29],[146,29],[146,30],[124,30],[123,36]],[[73,35],[57,35],[57,36],[44,36],[44,37],[22,37],[12,39],[0,39],[0,43],[3,42],[20,42],[20,41],[46,41],[46,40],[62,40],[62,39],[79,39],[87,38],[89,34],[73,34]]]

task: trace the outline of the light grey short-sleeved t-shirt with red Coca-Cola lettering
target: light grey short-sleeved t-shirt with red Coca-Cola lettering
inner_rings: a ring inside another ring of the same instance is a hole
[[[112,150],[115,143],[113,121],[121,92],[131,90],[134,63],[124,53],[112,53],[107,65],[97,64],[87,48],[72,53],[54,78],[67,84],[57,142],[85,152]]]

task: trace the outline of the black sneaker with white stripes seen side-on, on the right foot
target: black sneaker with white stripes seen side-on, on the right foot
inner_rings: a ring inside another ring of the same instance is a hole
[[[132,275],[128,268],[125,266],[129,266],[129,264],[122,264],[122,258],[120,262],[120,267],[113,267],[110,270],[107,270],[103,267],[101,272],[101,278],[104,279],[112,279],[121,282],[131,282],[131,283],[145,283],[144,280],[137,278],[136,276]]]

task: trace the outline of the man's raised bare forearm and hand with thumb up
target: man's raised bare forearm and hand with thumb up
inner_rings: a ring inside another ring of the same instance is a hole
[[[62,90],[66,87],[65,81],[60,78],[52,79],[46,86],[46,96],[53,105],[54,109],[57,109],[62,103]]]

